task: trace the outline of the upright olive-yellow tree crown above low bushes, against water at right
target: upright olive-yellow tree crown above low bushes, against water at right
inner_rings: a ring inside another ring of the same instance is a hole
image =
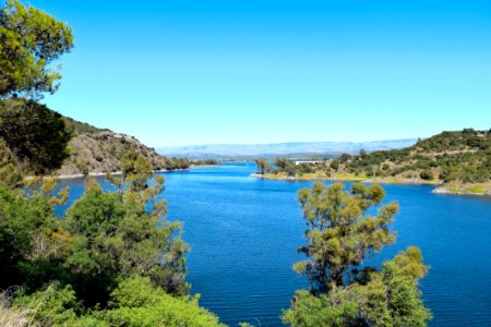
[[[348,193],[340,183],[327,189],[315,183],[312,190],[299,191],[308,226],[308,244],[299,252],[310,259],[298,263],[295,269],[308,276],[313,293],[335,291],[352,282],[359,278],[358,267],[367,255],[394,242],[388,223],[398,210],[397,204],[364,217],[383,197],[380,185],[354,184]]]

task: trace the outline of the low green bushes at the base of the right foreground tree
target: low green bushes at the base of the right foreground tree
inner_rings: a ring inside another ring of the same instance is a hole
[[[292,307],[283,315],[289,326],[426,326],[431,313],[424,307],[418,289],[427,274],[421,252],[409,247],[356,282],[327,294],[298,291]]]

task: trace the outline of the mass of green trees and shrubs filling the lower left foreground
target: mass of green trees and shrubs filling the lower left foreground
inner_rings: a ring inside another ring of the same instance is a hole
[[[87,180],[64,219],[53,214],[63,192],[52,196],[52,180],[27,194],[0,186],[0,288],[20,287],[3,305],[43,326],[218,325],[188,295],[188,245],[157,199],[164,178],[148,185],[144,157],[123,161],[119,191]]]

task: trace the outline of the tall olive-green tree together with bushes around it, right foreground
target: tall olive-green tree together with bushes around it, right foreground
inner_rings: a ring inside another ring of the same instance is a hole
[[[283,315],[289,326],[426,326],[431,313],[421,301],[418,281],[427,274],[421,252],[409,247],[382,269],[363,265],[370,255],[395,241],[390,223],[395,203],[380,205],[384,191],[343,184],[299,191],[308,229],[299,249],[307,259],[295,265],[310,289],[298,291]]]

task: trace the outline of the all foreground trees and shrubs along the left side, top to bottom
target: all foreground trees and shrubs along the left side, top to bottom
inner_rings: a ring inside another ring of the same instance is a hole
[[[47,64],[71,40],[41,11],[14,0],[1,9],[0,325],[219,326],[189,295],[189,247],[180,222],[165,219],[164,177],[142,147],[120,148],[117,191],[87,179],[83,197],[56,216],[69,192],[46,174],[73,153],[79,123],[35,99],[56,90],[60,75]]]

